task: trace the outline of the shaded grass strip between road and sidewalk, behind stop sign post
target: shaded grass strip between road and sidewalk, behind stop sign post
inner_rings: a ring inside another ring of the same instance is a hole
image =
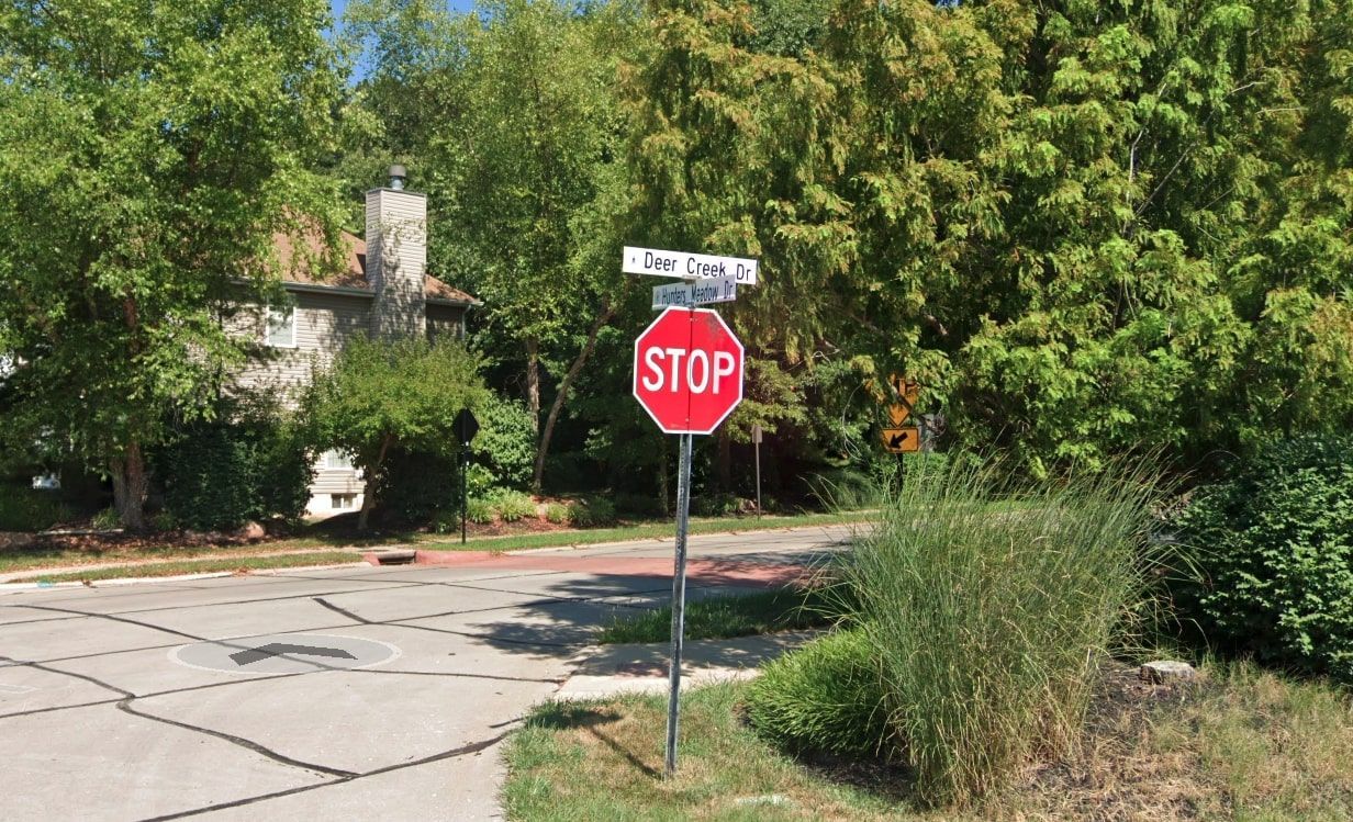
[[[779,588],[746,596],[716,596],[686,603],[687,639],[728,639],[770,631],[824,627],[833,621],[835,607],[820,589]],[[671,606],[618,616],[597,639],[602,645],[621,642],[667,642],[671,638]]]

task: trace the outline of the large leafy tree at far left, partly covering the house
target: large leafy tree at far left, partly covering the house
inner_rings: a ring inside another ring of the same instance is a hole
[[[210,414],[277,233],[337,246],[323,0],[0,7],[7,448],[55,441],[143,525],[146,450]]]

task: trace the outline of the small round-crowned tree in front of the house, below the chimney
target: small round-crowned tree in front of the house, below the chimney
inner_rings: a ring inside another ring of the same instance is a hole
[[[363,470],[367,488],[359,530],[367,529],[377,504],[376,489],[392,448],[455,453],[456,414],[488,397],[479,368],[479,357],[459,342],[357,338],[327,372],[315,376],[302,399],[303,418],[317,449],[348,452]]]

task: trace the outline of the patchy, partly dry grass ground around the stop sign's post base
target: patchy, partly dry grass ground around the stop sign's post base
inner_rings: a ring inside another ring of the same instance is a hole
[[[1250,665],[1196,687],[1105,676],[1080,752],[1030,767],[963,811],[925,811],[900,768],[805,764],[746,726],[746,684],[682,698],[678,776],[662,779],[664,698],[545,704],[511,738],[507,818],[572,819],[1253,819],[1353,818],[1353,707],[1319,683]]]

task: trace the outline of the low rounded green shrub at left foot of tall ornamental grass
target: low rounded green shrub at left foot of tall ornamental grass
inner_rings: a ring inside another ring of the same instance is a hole
[[[752,726],[796,752],[896,752],[869,642],[862,630],[842,630],[766,665],[748,691]]]

